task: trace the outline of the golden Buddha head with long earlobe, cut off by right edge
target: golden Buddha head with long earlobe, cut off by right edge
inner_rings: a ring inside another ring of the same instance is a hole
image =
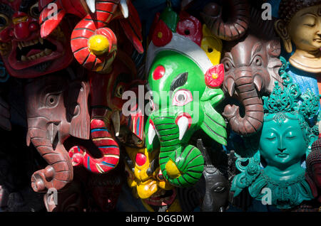
[[[321,72],[321,4],[297,11],[287,24],[278,20],[275,29],[287,53],[292,53],[292,43],[295,45],[295,53],[289,60],[292,66]]]

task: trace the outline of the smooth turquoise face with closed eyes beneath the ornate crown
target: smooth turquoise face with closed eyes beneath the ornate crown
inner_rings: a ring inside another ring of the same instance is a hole
[[[278,121],[277,117],[283,119]],[[259,150],[267,167],[278,175],[284,174],[283,171],[301,168],[300,163],[307,151],[307,141],[297,115],[284,113],[282,116],[269,114],[265,117]]]

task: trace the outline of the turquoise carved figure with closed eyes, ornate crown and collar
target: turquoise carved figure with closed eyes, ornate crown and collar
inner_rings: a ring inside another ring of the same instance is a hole
[[[319,97],[310,90],[301,95],[285,68],[286,64],[280,70],[283,87],[276,82],[270,97],[263,97],[265,117],[263,129],[257,134],[258,148],[251,146],[246,154],[235,152],[235,164],[241,173],[233,178],[230,189],[237,196],[248,188],[256,200],[280,209],[313,198],[302,162],[317,139],[319,110]]]

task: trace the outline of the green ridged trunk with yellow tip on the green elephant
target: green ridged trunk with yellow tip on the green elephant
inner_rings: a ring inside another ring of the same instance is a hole
[[[202,176],[204,159],[200,150],[192,145],[184,145],[182,129],[188,129],[173,116],[153,117],[150,119],[148,137],[158,134],[161,143],[159,165],[164,178],[179,187],[195,184]],[[185,131],[183,131],[185,133]]]

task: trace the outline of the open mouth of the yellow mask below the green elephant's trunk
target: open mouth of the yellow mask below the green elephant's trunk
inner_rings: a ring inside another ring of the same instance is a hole
[[[170,207],[176,198],[176,190],[159,190],[158,192],[151,195],[150,198],[143,199],[143,202],[150,205],[153,210],[159,207]]]

